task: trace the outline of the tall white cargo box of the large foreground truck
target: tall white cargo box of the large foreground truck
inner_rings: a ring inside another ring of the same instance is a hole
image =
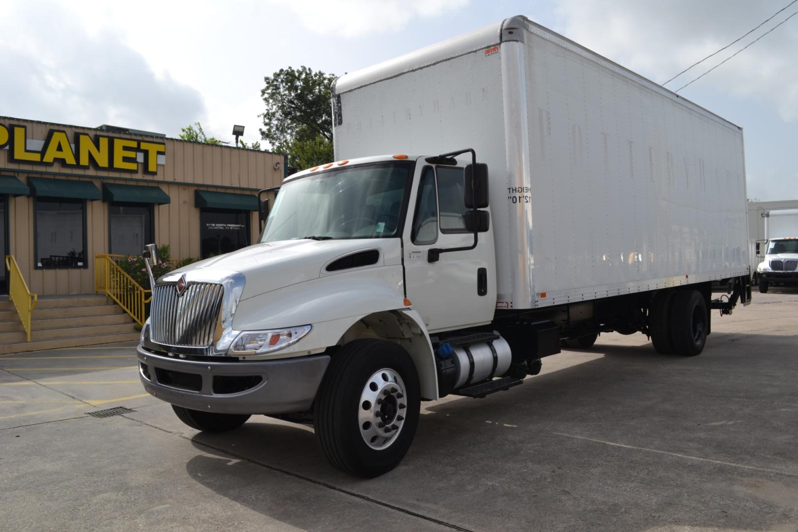
[[[333,90],[338,160],[488,164],[497,309],[749,274],[741,128],[526,18]]]

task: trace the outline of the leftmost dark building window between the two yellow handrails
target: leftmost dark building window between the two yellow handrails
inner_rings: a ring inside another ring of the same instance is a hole
[[[83,199],[36,199],[36,267],[85,268]]]

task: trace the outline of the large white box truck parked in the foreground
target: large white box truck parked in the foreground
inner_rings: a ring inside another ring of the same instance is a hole
[[[749,302],[741,128],[526,18],[346,74],[332,112],[258,244],[152,281],[141,380],[194,428],[312,423],[380,475],[421,400],[610,331],[697,355]]]

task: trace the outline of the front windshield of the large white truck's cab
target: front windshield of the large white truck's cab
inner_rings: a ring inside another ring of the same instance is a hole
[[[412,171],[412,163],[373,164],[290,181],[280,188],[261,242],[398,236]]]

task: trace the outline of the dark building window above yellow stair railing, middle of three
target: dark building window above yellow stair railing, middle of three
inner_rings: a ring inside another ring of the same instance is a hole
[[[113,254],[140,255],[144,246],[155,242],[152,234],[152,205],[109,203],[109,250]]]

